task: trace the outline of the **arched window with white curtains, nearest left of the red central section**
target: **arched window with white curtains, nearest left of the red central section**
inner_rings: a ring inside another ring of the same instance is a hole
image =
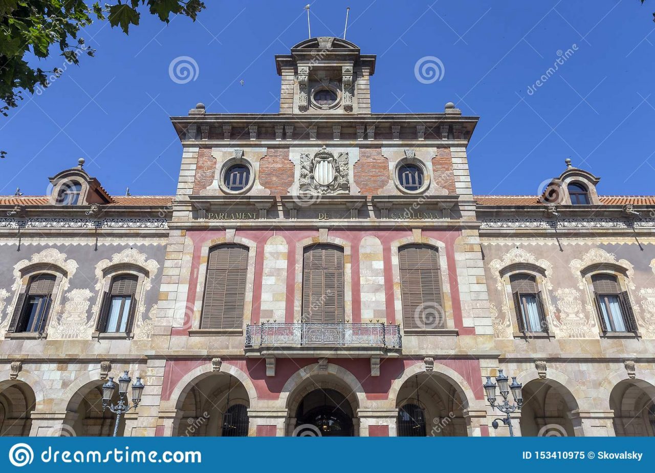
[[[139,278],[132,274],[120,274],[111,279],[100,304],[98,332],[129,333],[132,330],[138,282]]]

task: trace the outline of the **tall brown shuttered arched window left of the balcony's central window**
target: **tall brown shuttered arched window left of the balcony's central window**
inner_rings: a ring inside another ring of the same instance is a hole
[[[242,328],[247,273],[247,247],[225,244],[210,249],[200,328]]]

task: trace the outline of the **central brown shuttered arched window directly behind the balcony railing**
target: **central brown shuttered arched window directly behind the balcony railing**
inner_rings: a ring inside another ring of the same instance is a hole
[[[343,249],[313,245],[303,255],[303,322],[345,321]]]

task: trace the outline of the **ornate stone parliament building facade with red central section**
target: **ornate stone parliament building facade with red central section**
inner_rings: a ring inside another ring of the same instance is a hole
[[[172,117],[175,196],[81,162],[0,198],[0,434],[110,434],[128,370],[126,436],[503,436],[504,370],[515,433],[654,435],[655,198],[570,162],[474,196],[477,117],[371,113],[375,56],[290,53],[280,113]]]

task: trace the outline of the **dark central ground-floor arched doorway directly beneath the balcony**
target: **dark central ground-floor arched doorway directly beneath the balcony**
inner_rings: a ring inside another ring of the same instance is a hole
[[[294,430],[297,436],[312,436],[311,432],[320,432],[322,437],[352,437],[353,417],[350,403],[339,391],[314,389],[303,397],[296,410]]]

